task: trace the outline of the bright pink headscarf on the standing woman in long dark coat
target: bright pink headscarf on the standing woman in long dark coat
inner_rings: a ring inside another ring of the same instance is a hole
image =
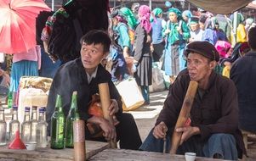
[[[145,29],[147,33],[150,33],[151,31],[151,23],[150,23],[150,18],[151,18],[151,8],[149,8],[146,5],[141,5],[139,7],[139,22],[140,25]]]

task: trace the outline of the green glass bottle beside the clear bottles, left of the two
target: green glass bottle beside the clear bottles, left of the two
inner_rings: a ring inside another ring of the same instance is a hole
[[[60,95],[57,95],[55,111],[51,118],[51,148],[65,148],[65,115]]]

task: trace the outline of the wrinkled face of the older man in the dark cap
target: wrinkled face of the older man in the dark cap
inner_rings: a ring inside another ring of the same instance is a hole
[[[191,80],[198,83],[208,80],[214,67],[215,61],[211,61],[199,53],[189,53],[187,57],[187,69]]]

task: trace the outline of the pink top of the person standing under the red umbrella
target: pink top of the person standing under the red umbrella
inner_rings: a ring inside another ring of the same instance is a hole
[[[41,47],[37,45],[27,52],[14,53],[13,63],[21,60],[35,61],[38,64],[38,69],[41,69]]]

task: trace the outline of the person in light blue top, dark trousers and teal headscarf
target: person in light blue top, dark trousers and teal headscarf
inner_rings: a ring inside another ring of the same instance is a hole
[[[162,51],[165,46],[165,42],[162,38],[162,29],[166,22],[162,19],[162,9],[155,8],[151,15],[151,26],[152,26],[152,47],[153,47],[153,61],[158,62],[162,57]]]

